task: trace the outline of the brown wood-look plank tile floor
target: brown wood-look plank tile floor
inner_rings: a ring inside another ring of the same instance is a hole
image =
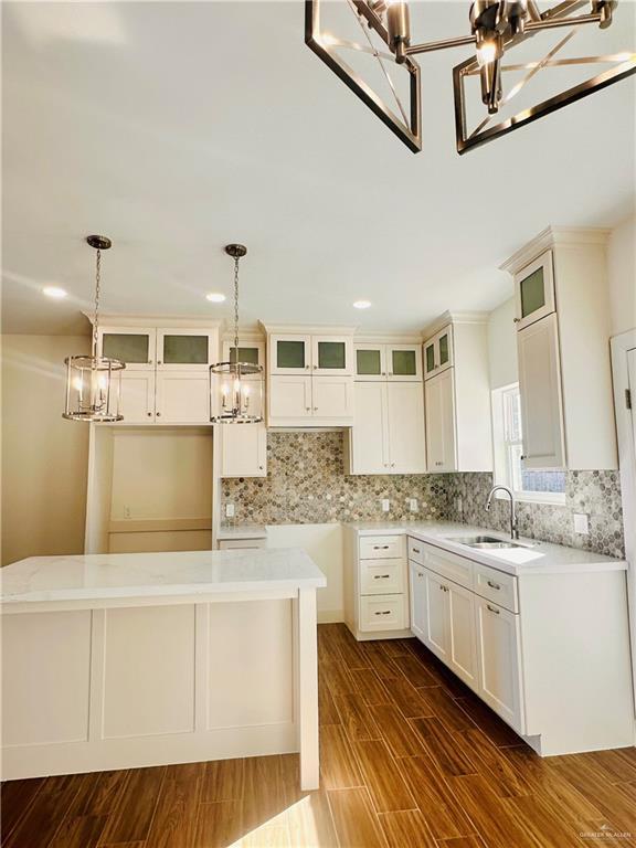
[[[415,639],[319,658],[320,791],[294,754],[12,781],[2,846],[636,846],[635,749],[542,760]]]

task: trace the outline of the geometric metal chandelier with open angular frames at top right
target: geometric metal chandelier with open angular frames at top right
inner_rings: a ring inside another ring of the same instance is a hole
[[[476,0],[469,34],[412,43],[403,0],[306,0],[305,42],[413,152],[422,149],[425,95],[414,56],[470,46],[453,68],[456,145],[465,153],[636,73],[625,45],[587,55],[574,40],[569,55],[580,30],[610,28],[616,6],[563,0],[541,11],[534,0]]]

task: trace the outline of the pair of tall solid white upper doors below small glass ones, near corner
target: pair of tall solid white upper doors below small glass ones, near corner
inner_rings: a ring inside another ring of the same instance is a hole
[[[350,474],[424,474],[421,382],[354,383],[356,415],[347,443]]]

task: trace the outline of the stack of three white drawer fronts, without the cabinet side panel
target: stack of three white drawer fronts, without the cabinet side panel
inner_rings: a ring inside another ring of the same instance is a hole
[[[359,547],[359,628],[364,633],[409,627],[404,536],[364,536]]]

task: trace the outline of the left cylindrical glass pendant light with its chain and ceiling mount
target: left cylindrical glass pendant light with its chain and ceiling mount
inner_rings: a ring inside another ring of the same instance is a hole
[[[113,242],[105,235],[89,235],[86,242],[95,248],[95,314],[93,317],[93,343],[91,356],[67,357],[66,405],[63,417],[71,421],[110,422],[123,421],[119,412],[121,371],[126,368],[118,359],[97,354],[99,337],[99,288],[102,277],[102,251]]]

